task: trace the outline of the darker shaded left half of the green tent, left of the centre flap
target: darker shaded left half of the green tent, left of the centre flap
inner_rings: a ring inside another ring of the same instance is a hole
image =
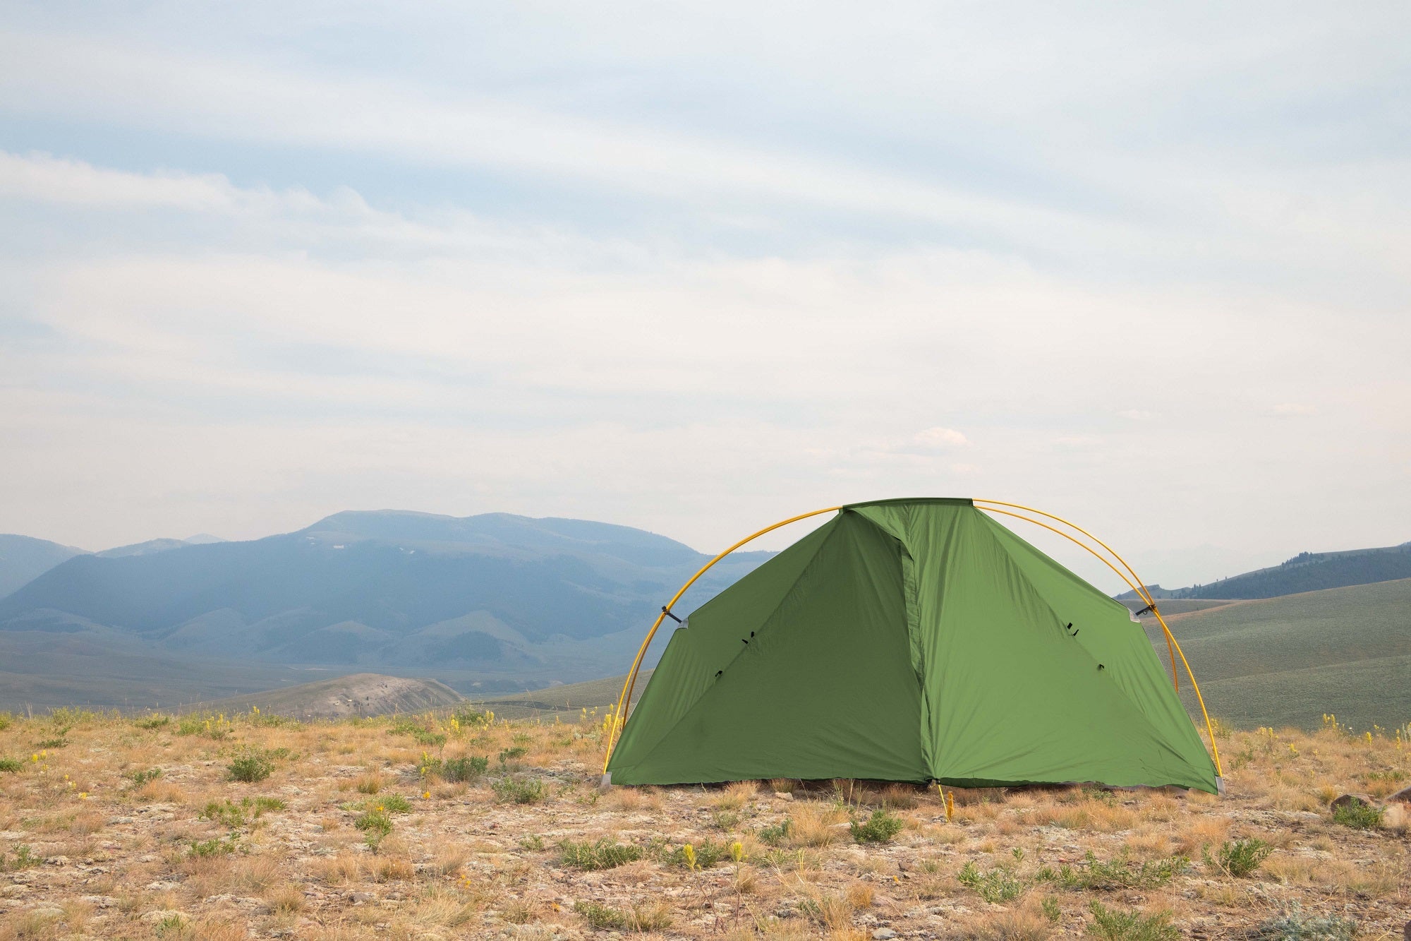
[[[648,692],[698,685],[700,675],[687,674],[698,674],[701,664],[706,687],[665,733],[634,729],[649,708],[643,695],[612,753],[614,783],[928,777],[917,735],[920,688],[906,630],[902,545],[854,513],[840,514],[820,534],[813,558],[748,644],[734,599],[711,602],[676,632],[670,661],[662,658]],[[701,656],[684,656],[731,644],[734,657],[714,670]],[[715,670],[724,673],[715,677]],[[641,728],[649,725],[656,721]]]

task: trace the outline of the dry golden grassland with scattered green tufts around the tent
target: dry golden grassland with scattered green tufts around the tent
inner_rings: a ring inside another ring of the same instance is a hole
[[[0,721],[0,938],[1403,938],[1407,730],[1221,732],[1229,794],[597,788],[604,726]],[[1343,793],[1371,798],[1333,811]],[[947,797],[952,797],[948,801]]]

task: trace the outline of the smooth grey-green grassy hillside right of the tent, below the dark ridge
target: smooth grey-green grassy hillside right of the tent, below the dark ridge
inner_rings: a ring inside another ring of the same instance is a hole
[[[1143,622],[1165,661],[1160,627]],[[1233,602],[1168,623],[1211,712],[1239,726],[1411,719],[1411,579]],[[1194,709],[1184,677],[1182,690]]]

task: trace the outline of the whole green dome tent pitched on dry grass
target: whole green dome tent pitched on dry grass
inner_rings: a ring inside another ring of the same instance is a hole
[[[837,509],[673,632],[605,781],[1218,790],[1125,605],[968,499]]]

